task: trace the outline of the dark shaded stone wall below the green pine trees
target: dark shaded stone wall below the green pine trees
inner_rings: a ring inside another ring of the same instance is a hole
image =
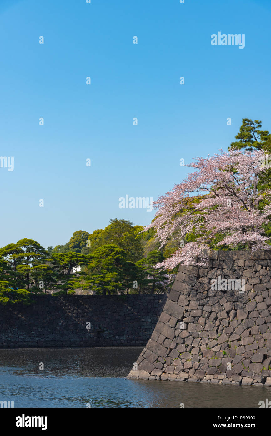
[[[144,346],[166,298],[139,294],[33,296],[35,303],[28,307],[0,306],[0,347]]]

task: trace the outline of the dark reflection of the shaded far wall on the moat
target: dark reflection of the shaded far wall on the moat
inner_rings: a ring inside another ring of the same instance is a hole
[[[12,367],[14,375],[41,378],[125,377],[141,351],[142,347],[0,349],[0,372]]]

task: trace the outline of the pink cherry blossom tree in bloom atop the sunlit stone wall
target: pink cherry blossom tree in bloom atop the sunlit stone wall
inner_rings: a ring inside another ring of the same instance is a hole
[[[155,228],[160,248],[173,234],[180,241],[180,248],[157,268],[206,265],[202,249],[215,246],[251,251],[271,248],[263,227],[271,215],[271,191],[258,189],[259,175],[266,170],[264,152],[220,151],[207,159],[196,157],[187,165],[195,172],[154,202],[155,219],[144,231]],[[265,206],[260,207],[263,200]]]

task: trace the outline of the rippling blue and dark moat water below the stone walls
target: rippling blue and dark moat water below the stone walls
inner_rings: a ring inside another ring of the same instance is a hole
[[[18,407],[258,408],[271,388],[127,380],[142,347],[0,349],[0,401]],[[40,367],[44,369],[39,369]],[[88,406],[88,407],[89,407]]]

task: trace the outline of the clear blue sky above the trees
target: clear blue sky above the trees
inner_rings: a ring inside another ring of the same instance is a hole
[[[155,211],[119,197],[155,200],[188,174],[181,158],[226,150],[244,117],[271,130],[270,22],[270,0],[0,0],[0,155],[14,156],[0,246],[147,225]],[[212,46],[218,31],[245,48]]]

